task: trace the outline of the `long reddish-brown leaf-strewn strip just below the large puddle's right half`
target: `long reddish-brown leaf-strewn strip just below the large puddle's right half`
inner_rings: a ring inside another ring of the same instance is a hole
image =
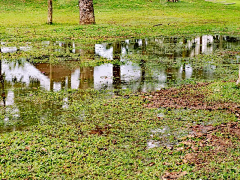
[[[226,110],[235,113],[239,117],[240,104],[232,102],[206,101],[207,91],[202,87],[209,83],[198,83],[196,85],[184,85],[181,88],[161,89],[160,91],[144,94],[147,108],[189,108],[202,110]]]

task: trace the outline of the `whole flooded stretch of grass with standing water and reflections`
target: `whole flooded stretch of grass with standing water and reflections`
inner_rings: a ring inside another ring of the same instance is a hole
[[[238,78],[238,37],[25,44],[12,47],[1,42],[1,132],[23,129],[39,119],[61,119],[78,91],[97,90],[111,98],[124,92]],[[40,93],[50,99],[41,99]]]

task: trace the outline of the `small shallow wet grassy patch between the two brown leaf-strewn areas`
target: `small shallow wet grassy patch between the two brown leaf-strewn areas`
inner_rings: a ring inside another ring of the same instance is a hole
[[[155,147],[167,147],[171,149],[179,143],[179,139],[187,136],[197,135],[197,133],[205,134],[216,125],[226,124],[229,122],[229,113],[196,111],[188,109],[172,109],[168,111],[165,108],[159,108],[156,111],[157,117],[167,125],[156,127],[149,130],[149,139],[146,143],[147,149]],[[166,117],[166,119],[164,119]],[[171,121],[171,119],[173,121]],[[179,125],[178,124],[179,121]],[[182,127],[182,124],[186,126]]]

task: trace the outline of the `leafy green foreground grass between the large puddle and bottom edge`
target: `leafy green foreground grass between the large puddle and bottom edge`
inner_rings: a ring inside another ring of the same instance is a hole
[[[36,118],[46,103],[61,106],[66,96],[72,102],[67,109],[45,114],[38,125],[0,135],[1,178],[159,179],[166,171],[187,171],[187,177],[194,178],[195,166],[182,161],[189,150],[172,145],[187,137],[190,126],[236,121],[221,111],[146,109],[141,97],[126,92],[122,96],[92,90],[31,93],[17,97],[21,106],[31,106],[30,117]],[[161,146],[148,146],[153,142]],[[239,152],[235,149],[228,155],[234,158]],[[221,178],[228,172],[223,166],[235,169],[229,177],[238,177],[238,165],[229,165],[231,161],[213,162],[218,171],[198,177]]]

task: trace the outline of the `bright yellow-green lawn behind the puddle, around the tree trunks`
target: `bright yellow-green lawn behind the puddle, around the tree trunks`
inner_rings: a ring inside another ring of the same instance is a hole
[[[96,25],[78,25],[77,2],[54,1],[54,25],[46,24],[47,3],[1,0],[2,38],[109,39],[193,33],[239,33],[239,4],[199,0],[95,1]],[[160,26],[153,27],[156,24]]]

